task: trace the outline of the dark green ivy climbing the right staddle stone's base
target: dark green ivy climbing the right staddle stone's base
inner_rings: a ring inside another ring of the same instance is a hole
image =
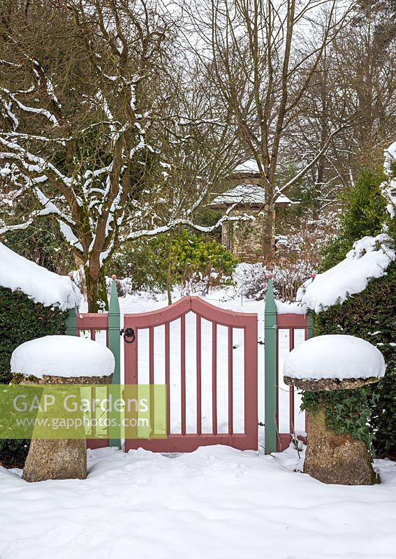
[[[340,435],[351,435],[365,442],[373,452],[374,435],[369,428],[372,405],[378,401],[369,386],[351,390],[332,390],[302,393],[301,409],[316,414],[325,409],[326,427]]]

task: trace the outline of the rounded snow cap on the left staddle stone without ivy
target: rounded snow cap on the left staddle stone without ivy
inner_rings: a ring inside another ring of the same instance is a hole
[[[115,359],[108,347],[77,336],[44,336],[14,349],[11,371],[52,377],[108,377]]]

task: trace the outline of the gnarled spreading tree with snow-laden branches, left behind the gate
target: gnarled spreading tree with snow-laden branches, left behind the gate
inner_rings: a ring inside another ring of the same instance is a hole
[[[85,266],[94,312],[103,265],[124,240],[205,229],[193,215],[214,169],[187,189],[177,170],[205,118],[169,115],[159,94],[175,22],[150,0],[3,0],[0,31],[0,233],[53,215]]]

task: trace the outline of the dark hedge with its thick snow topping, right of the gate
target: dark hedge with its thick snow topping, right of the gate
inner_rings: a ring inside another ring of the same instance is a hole
[[[341,245],[351,242],[359,226],[366,227],[366,235],[353,244],[342,261],[306,282],[300,299],[315,311],[314,335],[358,336],[383,354],[386,374],[368,395],[367,405],[372,412],[370,437],[374,438],[377,455],[396,456],[396,143],[387,152],[384,167],[389,180],[381,184],[372,182],[372,196],[377,188],[386,198],[386,206],[381,211],[376,208],[369,212],[370,200],[357,191],[353,205],[346,208],[349,228],[342,231]],[[370,219],[360,224],[355,219],[360,214],[369,215]],[[379,231],[382,232],[378,234]],[[342,414],[347,416],[345,409]]]

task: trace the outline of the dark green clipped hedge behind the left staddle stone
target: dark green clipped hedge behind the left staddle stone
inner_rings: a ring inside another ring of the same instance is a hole
[[[64,334],[66,312],[35,304],[22,293],[0,287],[0,383],[11,380],[10,358],[18,345],[51,334]],[[25,440],[0,440],[0,463],[21,465],[29,444]]]

